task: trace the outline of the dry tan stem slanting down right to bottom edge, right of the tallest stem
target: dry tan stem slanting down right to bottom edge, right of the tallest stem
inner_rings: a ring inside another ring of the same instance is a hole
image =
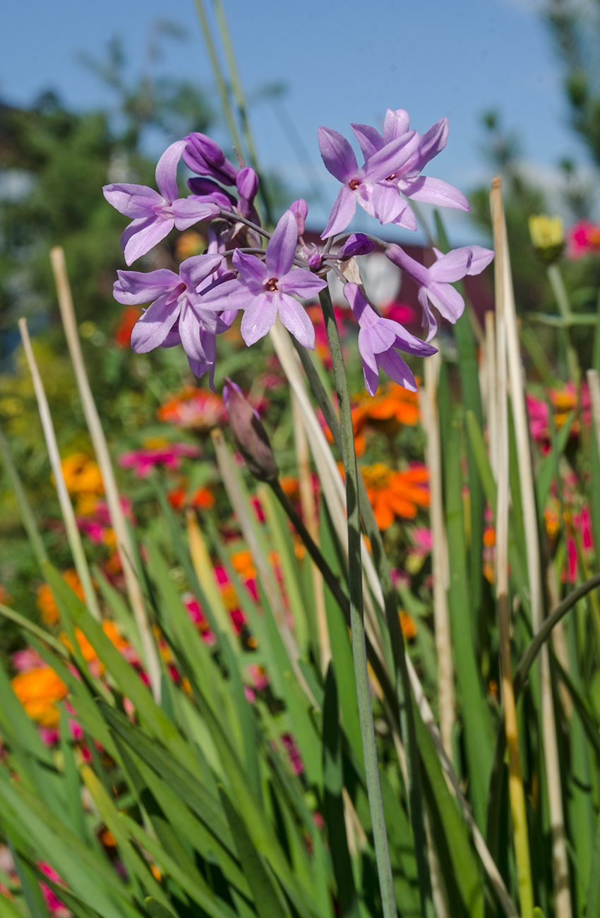
[[[529,593],[531,597],[531,620],[533,630],[537,632],[544,619],[544,597],[541,562],[539,558],[538,512],[533,482],[528,413],[525,402],[525,379],[518,340],[517,310],[515,308],[513,279],[510,270],[506,222],[504,212],[501,208],[500,215],[500,229],[502,231],[503,244],[502,268],[505,285],[506,352],[510,376],[510,400],[513,409],[515,440],[517,442],[518,476],[521,487]],[[554,908],[556,918],[572,918],[571,890],[569,887],[569,861],[565,844],[564,812],[562,808],[561,767],[556,737],[556,722],[554,719],[554,702],[552,700],[550,656],[546,644],[542,647],[539,655],[539,677],[544,761],[546,764],[548,801],[550,808]]]

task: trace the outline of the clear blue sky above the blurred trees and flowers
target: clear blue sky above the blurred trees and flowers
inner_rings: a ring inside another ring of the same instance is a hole
[[[317,126],[349,136],[351,121],[379,124],[387,106],[406,108],[411,126],[420,132],[442,115],[449,118],[448,147],[428,174],[463,191],[488,175],[478,146],[480,119],[490,108],[517,131],[524,157],[540,176],[551,174],[564,155],[585,162],[567,127],[550,37],[527,0],[371,0],[368,5],[225,0],[225,7],[246,92],[251,96],[264,84],[286,84],[285,111],[331,201],[337,184],[320,166]],[[0,98],[29,104],[40,90],[54,88],[75,108],[109,105],[110,91],[77,62],[77,52],[99,56],[117,33],[125,40],[131,73],[139,72],[149,26],[157,18],[169,18],[188,33],[184,42],[165,41],[158,72],[204,85],[217,106],[193,0],[5,4]],[[255,103],[251,121],[261,165],[276,168],[293,192],[302,190],[297,145],[285,135],[272,104]],[[226,140],[222,125],[214,134]],[[158,146],[153,151],[160,153]],[[314,208],[313,217],[318,222],[325,214]],[[460,220],[456,231],[460,236],[467,231]]]

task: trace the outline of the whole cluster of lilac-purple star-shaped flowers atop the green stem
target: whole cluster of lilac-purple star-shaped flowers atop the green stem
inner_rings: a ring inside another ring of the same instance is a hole
[[[360,168],[348,140],[335,130],[318,129],[323,162],[342,185],[321,237],[327,240],[322,248],[308,248],[304,242],[308,208],[302,199],[285,211],[272,234],[262,229],[254,204],[258,175],[243,163],[238,167],[229,162],[205,134],[190,134],[162,154],[156,168],[158,191],[145,185],[106,185],[106,200],[131,218],[121,237],[128,265],[147,255],[173,227],[184,230],[200,220],[209,222],[206,253],[183,261],[178,274],[165,268],[117,272],[114,296],[119,303],[150,304],[131,335],[134,351],[181,344],[194,374],[208,372],[214,388],[217,334],[229,328],[239,310],[241,335],[249,346],[279,318],[303,347],[312,350],[315,330],[303,301],[327,286],[329,270],[346,281],[344,264],[376,248],[371,237],[343,233],[357,203],[380,223],[406,229],[417,229],[407,199],[468,210],[456,188],[421,175],[446,145],[446,118],[421,136],[409,129],[406,111],[388,109],[383,134],[369,125],[354,124],[352,130],[364,157]],[[194,173],[187,183],[191,194],[184,197],[177,184],[182,159]],[[339,239],[332,238],[340,233]],[[264,238],[269,240],[265,248]],[[434,250],[437,261],[426,268],[398,245],[378,242],[390,261],[417,282],[428,341],[437,329],[432,307],[455,322],[464,302],[451,284],[466,274],[479,274],[494,257],[480,246],[446,255]],[[435,348],[398,322],[383,319],[360,285],[346,282],[344,296],[359,323],[367,390],[376,392],[380,370],[415,390],[415,378],[398,352],[428,356]]]

